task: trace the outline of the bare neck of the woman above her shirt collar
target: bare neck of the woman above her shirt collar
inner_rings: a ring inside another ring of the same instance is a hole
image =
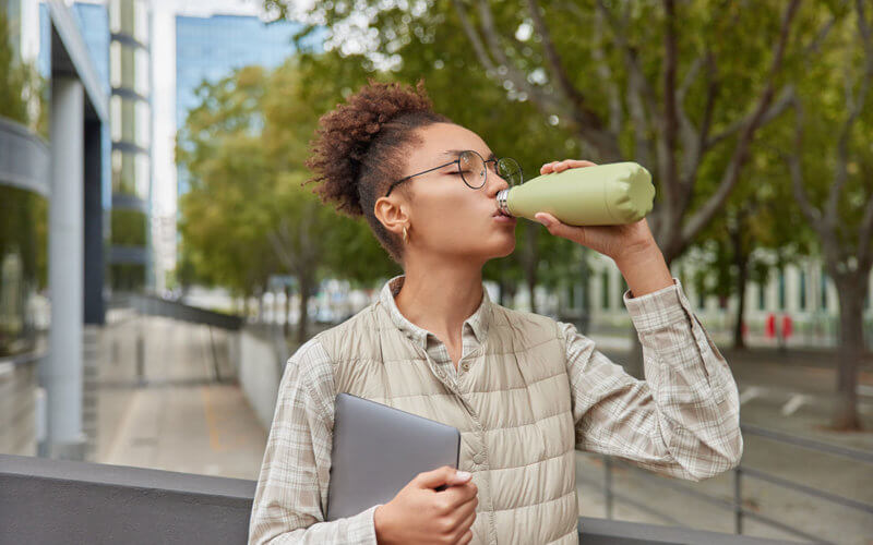
[[[404,283],[395,298],[397,308],[444,342],[459,340],[464,320],[482,302],[481,266],[449,262],[444,256],[404,265]]]

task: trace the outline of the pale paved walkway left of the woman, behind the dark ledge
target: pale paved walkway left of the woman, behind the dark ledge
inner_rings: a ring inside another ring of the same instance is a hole
[[[115,334],[132,343],[135,327]],[[214,382],[208,328],[154,317],[144,327],[145,386],[133,362],[100,368],[95,461],[256,480],[267,431],[238,385]]]

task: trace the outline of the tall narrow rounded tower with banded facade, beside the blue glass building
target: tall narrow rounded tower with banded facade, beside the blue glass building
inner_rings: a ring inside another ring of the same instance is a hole
[[[109,270],[116,291],[154,287],[151,14],[146,0],[109,1],[112,211]]]

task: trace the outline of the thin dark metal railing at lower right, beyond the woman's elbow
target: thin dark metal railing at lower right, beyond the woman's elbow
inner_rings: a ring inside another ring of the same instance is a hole
[[[863,462],[863,463],[873,463],[873,452],[865,451],[865,450],[858,450],[852,448],[839,447],[835,445],[828,445],[826,443],[808,439],[804,437],[797,437],[790,434],[785,434],[781,432],[776,432],[773,429],[766,429],[764,427],[754,426],[751,424],[742,424],[741,426],[742,433],[744,435],[755,435],[758,437],[764,437],[769,440],[775,440],[778,443],[784,443],[787,445],[793,445],[797,447],[805,448],[809,450],[813,450],[816,452],[840,456],[844,458],[848,458],[853,461]],[[788,488],[794,492],[799,492],[801,494],[805,494],[808,496],[812,496],[814,498],[828,501],[832,504],[836,504],[842,507],[847,507],[850,509],[854,509],[864,513],[870,513],[873,516],[873,505],[865,504],[863,501],[858,501],[852,498],[847,498],[845,496],[840,496],[838,494],[820,491],[817,488],[813,488],[812,486],[808,486],[801,483],[797,483],[794,481],[790,481],[785,477],[780,477],[765,471],[761,471],[757,469],[749,468],[742,464],[742,461],[739,465],[733,468],[733,501],[727,501],[721,498],[717,498],[710,496],[706,493],[695,491],[693,488],[689,488],[685,485],[679,484],[678,482],[672,482],[670,480],[665,480],[661,477],[656,476],[648,470],[643,468],[636,467],[630,462],[625,462],[618,458],[611,458],[608,456],[602,457],[603,460],[603,483],[591,479],[586,477],[578,477],[579,482],[589,484],[595,487],[601,487],[603,489],[603,500],[606,505],[606,518],[612,519],[613,518],[613,505],[615,500],[623,501],[641,511],[644,511],[648,514],[658,517],[671,524],[678,526],[685,526],[683,522],[677,520],[673,517],[670,517],[667,513],[658,511],[657,509],[651,508],[650,506],[634,499],[633,497],[617,493],[612,487],[612,471],[614,467],[620,467],[624,469],[632,470],[635,475],[642,477],[645,481],[657,483],[658,486],[666,486],[672,491],[675,491],[680,494],[684,494],[686,496],[691,496],[695,499],[704,501],[708,505],[718,507],[720,509],[725,509],[728,511],[733,512],[734,519],[734,533],[742,534],[743,533],[743,521],[745,518],[754,519],[762,524],[768,525],[770,528],[775,528],[777,530],[781,530],[788,534],[794,535],[797,537],[802,537],[804,540],[809,540],[813,543],[825,543],[829,544],[826,540],[823,540],[818,536],[812,535],[810,533],[803,532],[802,530],[798,530],[785,522],[778,521],[770,517],[766,517],[764,514],[757,513],[752,511],[743,506],[743,498],[742,498],[742,483],[743,479],[756,479],[760,481],[764,481],[776,486],[780,486],[784,488]]]

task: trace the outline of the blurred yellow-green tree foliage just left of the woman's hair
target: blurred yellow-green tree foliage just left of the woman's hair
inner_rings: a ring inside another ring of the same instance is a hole
[[[332,108],[289,61],[203,84],[180,131],[177,160],[191,177],[180,201],[179,280],[254,293],[272,274],[314,286],[324,276],[363,284],[396,268],[362,221],[339,216],[303,185],[319,110]]]

